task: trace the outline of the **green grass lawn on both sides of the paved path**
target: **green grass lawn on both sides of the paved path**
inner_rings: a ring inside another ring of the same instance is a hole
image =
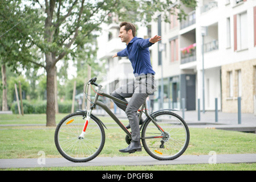
[[[67,114],[56,114],[56,123]],[[99,117],[105,123],[105,146],[99,156],[147,156],[147,152],[124,154],[120,148],[127,147],[125,133],[111,118]],[[123,120],[124,125],[128,120]],[[45,114],[0,114],[0,159],[38,158],[44,151],[46,158],[62,158],[54,143],[55,127],[5,126],[14,124],[46,124]],[[113,127],[117,126],[117,127]],[[256,135],[238,131],[190,128],[190,143],[183,155],[253,154],[256,153]],[[28,168],[27,168],[28,169]],[[22,169],[23,170],[23,169]],[[25,169],[26,170],[26,169]],[[31,168],[30,170],[256,170],[256,164],[195,164],[174,166],[119,166],[119,167],[62,167]]]

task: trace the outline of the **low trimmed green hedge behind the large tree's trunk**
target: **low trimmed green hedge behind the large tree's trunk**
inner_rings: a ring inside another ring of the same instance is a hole
[[[21,102],[19,102],[21,105]],[[27,100],[22,101],[24,114],[43,114],[46,113],[46,100],[36,101],[31,103]],[[72,101],[59,102],[59,113],[71,113]],[[78,104],[75,102],[75,110],[78,109]],[[14,102],[11,105],[11,111],[14,114],[19,114],[18,104]]]

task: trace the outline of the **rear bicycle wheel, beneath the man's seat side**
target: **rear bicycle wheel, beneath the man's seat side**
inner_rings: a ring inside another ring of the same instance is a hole
[[[141,132],[145,151],[157,160],[173,160],[181,156],[189,144],[189,129],[184,119],[170,111],[153,114]]]

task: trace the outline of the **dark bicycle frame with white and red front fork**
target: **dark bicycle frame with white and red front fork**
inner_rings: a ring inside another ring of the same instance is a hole
[[[124,105],[128,105],[128,102],[125,102],[125,101],[122,101],[120,100],[119,98],[116,98],[116,97],[113,97],[111,96],[110,94],[106,94],[104,92],[101,91],[101,88],[102,88],[102,85],[97,85],[99,89],[97,89],[97,92],[96,92],[96,96],[95,96],[95,99],[94,99],[94,104],[92,104],[92,106],[90,107],[90,110],[87,111],[87,117],[86,117],[86,122],[84,123],[84,127],[83,127],[83,131],[82,133],[80,134],[79,138],[84,138],[84,134],[86,132],[86,128],[87,128],[87,125],[88,125],[88,122],[90,121],[90,118],[91,118],[91,113],[92,113],[92,110],[94,110],[95,106],[98,105],[100,106],[101,108],[103,108],[107,113],[108,115],[117,123],[117,125],[119,125],[121,127],[121,129],[130,137],[132,138],[132,134],[130,133],[130,131],[123,125],[123,123],[121,123],[119,121],[119,119],[116,117],[116,115],[114,113],[112,113],[112,111],[108,108],[108,106],[106,106],[103,102],[99,101],[98,98],[99,96],[103,96],[103,97],[107,97],[107,98],[110,98],[112,100],[115,100],[117,102],[119,102],[120,104],[124,104]],[[139,110],[140,114],[139,114],[139,121],[141,119],[141,116],[143,114],[143,110],[145,110],[145,115],[147,115],[148,118],[152,119],[152,122],[156,125],[156,127],[161,131],[161,133],[164,133],[164,130],[161,129],[161,127],[159,125],[157,125],[155,119],[153,119],[151,117],[151,115],[149,114],[148,112],[148,106],[147,106],[147,102],[145,101],[144,104],[142,105],[141,107],[141,110]],[[145,121],[144,121],[145,122]],[[142,125],[143,126],[143,125]],[[140,130],[142,128],[142,126],[140,127]],[[162,136],[155,136],[155,137],[147,137],[147,138],[162,138]],[[143,138],[141,138],[143,139]]]

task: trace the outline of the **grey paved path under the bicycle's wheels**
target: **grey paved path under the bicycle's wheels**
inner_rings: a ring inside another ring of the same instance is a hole
[[[156,160],[151,156],[96,157],[87,163],[64,158],[0,159],[0,168],[76,167],[76,166],[152,166],[175,164],[256,163],[256,154],[182,155],[175,160]]]

